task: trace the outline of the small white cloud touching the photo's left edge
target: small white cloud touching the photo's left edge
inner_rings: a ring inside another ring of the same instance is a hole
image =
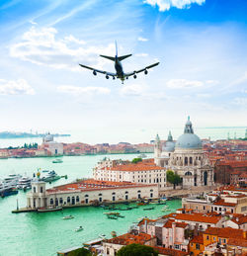
[[[20,95],[20,94],[35,94],[35,90],[24,79],[17,81],[7,81],[0,79],[0,94],[1,95]]]

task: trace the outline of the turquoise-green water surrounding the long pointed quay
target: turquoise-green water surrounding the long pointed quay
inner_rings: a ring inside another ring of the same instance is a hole
[[[149,157],[152,154],[148,155]],[[91,177],[92,168],[104,156],[64,156],[63,163],[53,164],[53,158],[27,158],[0,160],[0,178],[9,173],[20,173],[31,176],[38,168],[55,170],[59,175],[68,175],[68,179],[60,179],[51,186],[71,182],[76,178]],[[111,159],[132,159],[136,154],[111,155]],[[111,232],[122,234],[138,217],[157,217],[164,213],[164,206],[154,206],[152,211],[143,211],[139,207],[131,211],[123,211],[125,217],[108,219],[101,208],[85,207],[66,209],[56,213],[11,213],[16,209],[17,199],[20,207],[26,206],[26,195],[18,195],[0,199],[0,255],[56,255],[60,249],[81,245],[82,242],[98,238],[99,234],[111,237]],[[171,213],[181,208],[181,201],[167,202]],[[124,208],[124,206],[122,206]],[[73,214],[73,219],[62,219],[63,215]],[[82,225],[84,230],[75,232]]]

